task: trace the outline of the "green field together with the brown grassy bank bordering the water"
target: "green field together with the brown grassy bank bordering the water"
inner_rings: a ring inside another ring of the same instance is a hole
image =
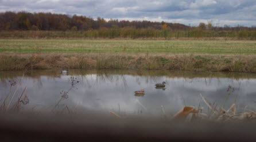
[[[255,54],[251,40],[0,39],[0,70],[256,72]]]

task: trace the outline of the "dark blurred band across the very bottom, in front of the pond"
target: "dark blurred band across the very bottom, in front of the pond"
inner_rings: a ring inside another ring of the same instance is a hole
[[[0,141],[255,141],[256,123],[0,113]]]

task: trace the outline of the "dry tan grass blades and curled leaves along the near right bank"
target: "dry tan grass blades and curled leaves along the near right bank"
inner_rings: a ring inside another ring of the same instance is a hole
[[[197,109],[195,107],[184,107],[180,109],[180,111],[178,111],[173,116],[168,117],[168,115],[165,114],[164,107],[161,106],[165,120],[181,121],[181,122],[209,121],[209,122],[218,122],[218,123],[225,123],[225,122],[240,123],[240,122],[249,122],[249,121],[255,122],[256,120],[256,111],[246,109],[246,107],[237,108],[235,103],[232,104],[227,110],[225,110],[223,107],[216,108],[211,103],[208,103],[209,101],[206,100],[201,94],[200,96],[204,101],[204,103],[206,104],[206,106],[210,108],[211,111],[208,111],[208,113],[203,113],[202,112],[204,109],[203,107],[197,108]],[[142,107],[144,106],[142,105]],[[242,109],[242,111],[238,112],[237,111],[238,109]],[[119,117],[119,118],[122,117],[121,115],[118,115],[118,113],[115,113],[113,111],[110,111],[110,113],[116,117]]]

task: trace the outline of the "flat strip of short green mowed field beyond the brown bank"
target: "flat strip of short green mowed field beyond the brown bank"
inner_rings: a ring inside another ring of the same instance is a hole
[[[0,39],[6,53],[256,54],[253,40]]]

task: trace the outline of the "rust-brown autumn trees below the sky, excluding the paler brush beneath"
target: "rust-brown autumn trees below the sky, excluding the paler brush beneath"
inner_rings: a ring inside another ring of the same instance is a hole
[[[157,30],[214,30],[214,31],[239,31],[255,30],[256,27],[214,27],[211,22],[200,23],[198,26],[187,26],[181,23],[150,22],[150,21],[118,21],[111,19],[106,21],[103,18],[92,19],[86,16],[52,14],[52,13],[18,13],[6,11],[0,13],[0,30],[44,30],[44,31],[67,31],[67,30],[97,30],[117,29],[133,27],[135,29],[157,29]]]

